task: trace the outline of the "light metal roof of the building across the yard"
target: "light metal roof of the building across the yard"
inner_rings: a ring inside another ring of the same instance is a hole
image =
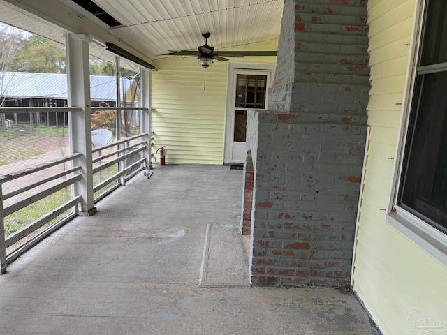
[[[60,73],[5,72],[0,74],[0,96],[11,98],[67,98],[67,76]],[[121,90],[127,92],[135,82],[133,78],[121,78]],[[91,75],[91,100],[116,101],[116,78]],[[133,88],[132,88],[133,89]],[[122,94],[124,96],[124,94]]]

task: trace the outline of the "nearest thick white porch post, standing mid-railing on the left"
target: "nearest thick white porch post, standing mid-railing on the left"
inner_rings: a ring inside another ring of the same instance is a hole
[[[66,34],[66,63],[68,80],[68,107],[81,107],[82,112],[68,113],[70,152],[82,157],[73,164],[82,170],[82,179],[73,185],[73,195],[82,197],[82,214],[96,211],[93,206],[93,164],[91,157],[91,99],[89,73],[89,43],[91,38],[82,34]]]

